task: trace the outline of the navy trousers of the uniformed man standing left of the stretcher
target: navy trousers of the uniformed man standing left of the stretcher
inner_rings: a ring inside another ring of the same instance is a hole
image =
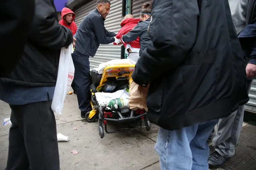
[[[75,67],[74,79],[75,90],[79,109],[82,112],[91,111],[91,93],[90,93],[90,62],[89,56],[74,51],[72,59]]]

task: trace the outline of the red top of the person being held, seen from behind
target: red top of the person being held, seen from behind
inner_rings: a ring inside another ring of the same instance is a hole
[[[139,21],[140,21],[140,19],[135,19],[135,18],[124,19],[120,24],[122,26],[122,28],[116,35],[116,38],[121,40],[122,35],[125,35],[129,31],[131,31],[138,24]],[[122,40],[121,40],[121,42],[122,42]],[[122,43],[124,44],[124,47],[126,49],[127,43],[126,42],[122,42]],[[129,44],[132,48],[140,48],[139,37],[136,40],[129,42]],[[114,43],[114,45],[115,45],[115,43]]]

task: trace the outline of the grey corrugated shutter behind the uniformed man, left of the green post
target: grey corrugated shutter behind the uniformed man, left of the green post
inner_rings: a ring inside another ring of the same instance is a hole
[[[105,20],[105,28],[107,31],[118,33],[121,29],[120,23],[122,20],[122,1],[112,0],[110,1],[110,11]],[[75,23],[79,23],[84,19],[84,17],[95,9],[96,0],[90,1],[88,4],[83,5],[81,8],[77,9],[75,12]],[[98,67],[100,63],[107,62],[113,59],[121,58],[121,47],[114,46],[113,43],[107,45],[100,45],[97,53],[94,57],[90,57],[90,67]]]

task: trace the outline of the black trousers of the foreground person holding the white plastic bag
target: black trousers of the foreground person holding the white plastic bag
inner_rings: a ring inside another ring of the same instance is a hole
[[[10,105],[12,125],[5,170],[59,170],[59,149],[52,101]]]

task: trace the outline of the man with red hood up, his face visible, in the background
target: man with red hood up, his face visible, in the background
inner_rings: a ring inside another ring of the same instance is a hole
[[[72,34],[75,35],[77,30],[74,22],[75,13],[71,9],[64,7],[61,10],[61,18],[62,19],[59,21],[59,23],[71,30]]]

